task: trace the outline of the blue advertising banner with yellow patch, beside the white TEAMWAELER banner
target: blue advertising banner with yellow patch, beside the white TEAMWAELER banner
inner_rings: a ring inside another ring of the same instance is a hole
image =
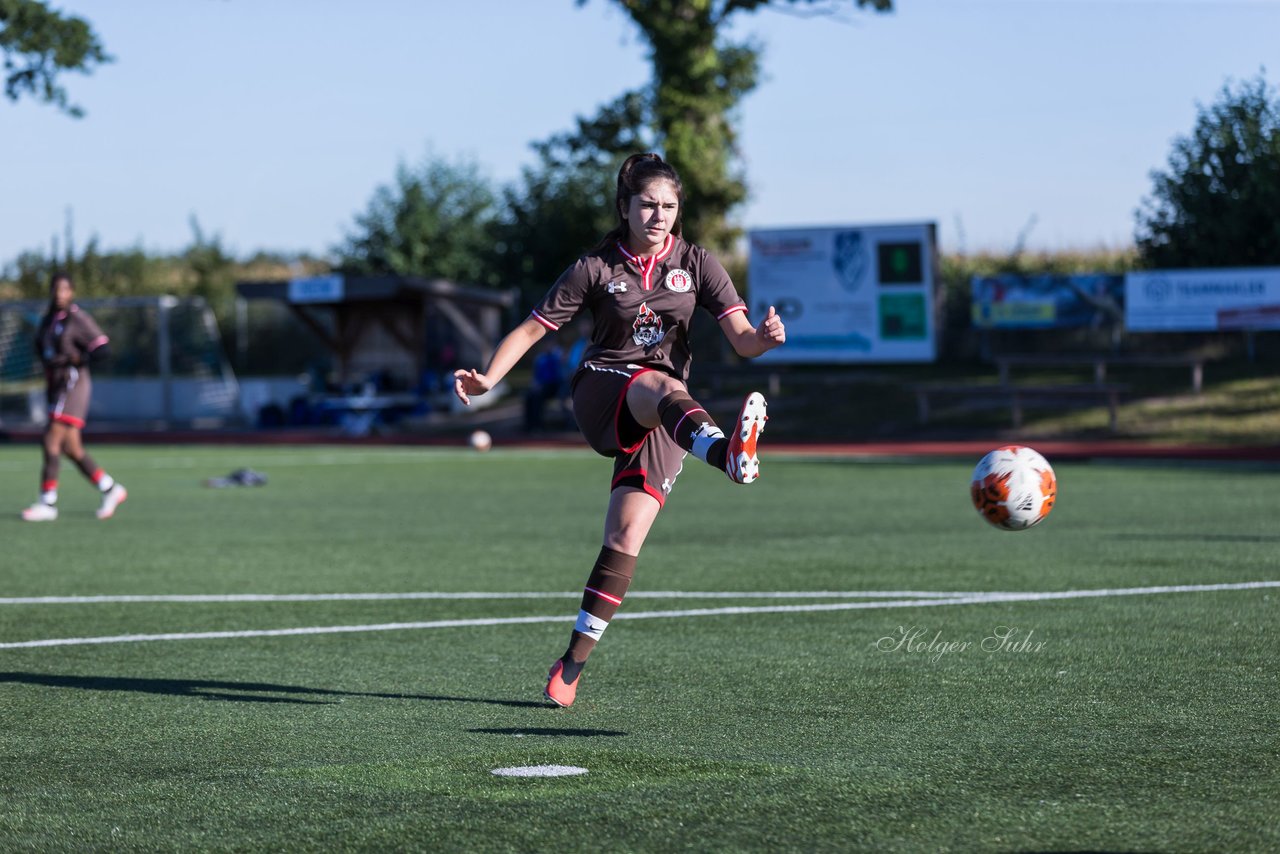
[[[975,275],[973,325],[978,329],[1110,326],[1124,320],[1124,277]]]

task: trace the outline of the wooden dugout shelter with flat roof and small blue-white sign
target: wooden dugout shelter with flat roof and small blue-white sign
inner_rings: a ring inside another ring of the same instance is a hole
[[[237,282],[241,300],[274,300],[333,351],[339,382],[388,370],[410,383],[448,338],[462,364],[484,365],[502,337],[518,292],[408,275],[340,274],[287,282]]]

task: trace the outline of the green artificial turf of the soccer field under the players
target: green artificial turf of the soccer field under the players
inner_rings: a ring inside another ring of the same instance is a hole
[[[745,489],[687,462],[554,709],[607,461],[93,452],[118,516],[67,466],[37,525],[38,451],[0,449],[3,850],[1280,848],[1280,588],[890,595],[1277,581],[1275,469],[1061,463],[1010,534],[969,506],[975,461],[773,456]],[[242,466],[269,484],[201,485]],[[13,602],[460,592],[548,595]],[[773,592],[886,595],[694,595]],[[385,629],[517,617],[545,620]],[[182,638],[300,629],[326,631]],[[4,647],[50,639],[81,641]],[[492,773],[535,764],[588,773]]]

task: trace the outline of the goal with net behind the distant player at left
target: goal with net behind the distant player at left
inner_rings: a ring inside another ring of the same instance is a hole
[[[221,426],[239,420],[239,387],[212,310],[200,297],[77,300],[111,339],[93,366],[90,424]],[[35,335],[47,302],[0,302],[0,425],[44,424]]]

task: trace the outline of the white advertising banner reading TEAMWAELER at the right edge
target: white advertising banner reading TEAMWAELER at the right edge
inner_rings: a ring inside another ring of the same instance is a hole
[[[1280,329],[1280,268],[1130,273],[1125,326],[1130,332]]]

